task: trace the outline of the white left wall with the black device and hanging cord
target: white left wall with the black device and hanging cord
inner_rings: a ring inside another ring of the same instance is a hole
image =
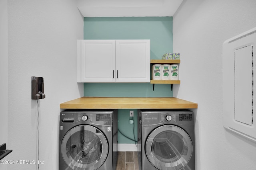
[[[8,0],[8,160],[37,158],[31,76],[38,76],[46,94],[38,101],[40,170],[58,170],[60,103],[83,96],[83,84],[76,83],[76,40],[83,39],[83,25],[76,0]]]

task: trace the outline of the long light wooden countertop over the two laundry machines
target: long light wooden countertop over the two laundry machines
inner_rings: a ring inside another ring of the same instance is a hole
[[[178,98],[82,97],[60,104],[61,109],[194,109],[197,104]]]

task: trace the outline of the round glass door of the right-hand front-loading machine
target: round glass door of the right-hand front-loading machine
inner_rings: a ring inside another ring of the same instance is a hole
[[[146,140],[146,156],[160,170],[180,170],[193,152],[189,135],[180,127],[163,125],[154,129]]]

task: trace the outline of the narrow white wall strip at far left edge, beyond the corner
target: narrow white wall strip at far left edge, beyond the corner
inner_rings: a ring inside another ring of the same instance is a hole
[[[7,0],[0,0],[0,145],[8,143],[8,20]],[[6,156],[3,160],[7,160]],[[0,164],[1,170],[6,170],[4,164]]]

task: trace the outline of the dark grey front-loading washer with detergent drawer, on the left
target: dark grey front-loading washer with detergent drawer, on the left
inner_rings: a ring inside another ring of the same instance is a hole
[[[60,113],[59,170],[115,170],[117,110]]]

